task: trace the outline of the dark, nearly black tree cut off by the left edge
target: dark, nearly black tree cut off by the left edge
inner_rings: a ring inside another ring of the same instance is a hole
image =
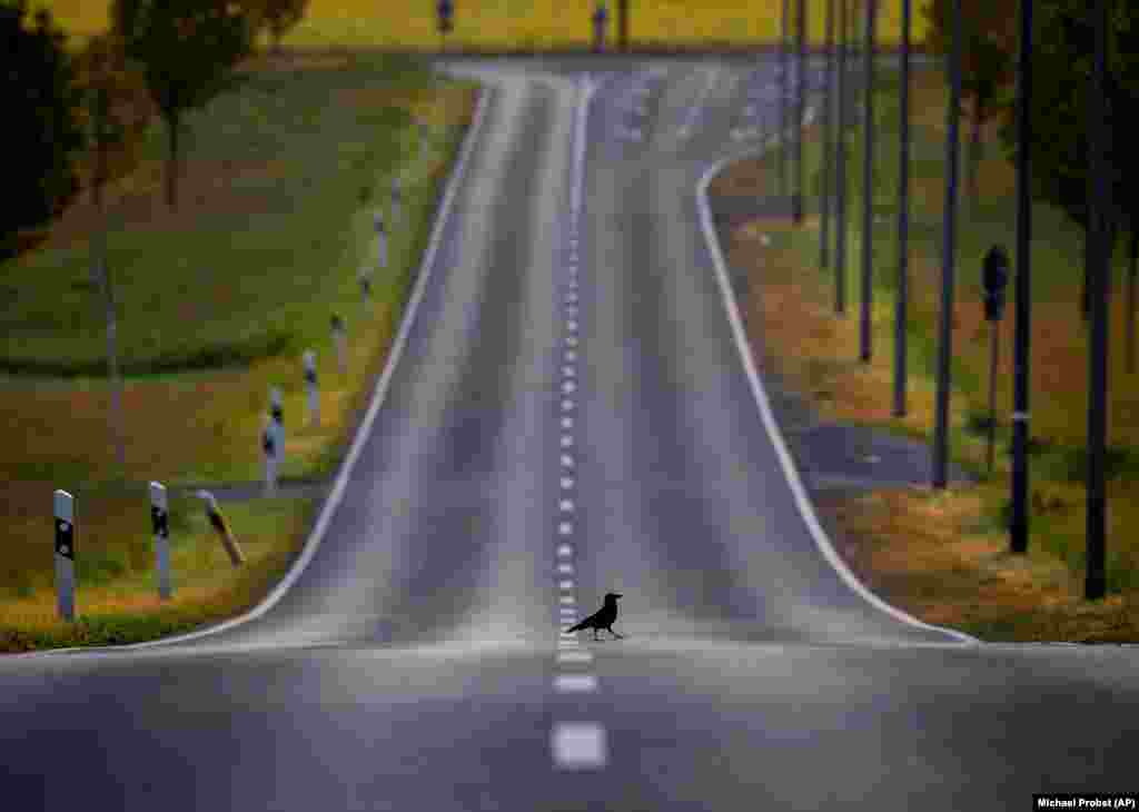
[[[80,90],[65,49],[66,36],[50,13],[25,25],[26,0],[0,2],[0,98],[5,100],[9,161],[0,195],[0,254],[16,251],[16,235],[40,225],[79,191],[76,153],[84,138],[75,109]]]

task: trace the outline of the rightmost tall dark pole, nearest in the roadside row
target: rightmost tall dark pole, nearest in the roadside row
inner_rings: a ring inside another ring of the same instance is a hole
[[[1096,0],[1096,61],[1091,73],[1088,99],[1089,146],[1091,161],[1088,173],[1095,183],[1096,194],[1090,200],[1091,218],[1089,236],[1095,248],[1091,252],[1092,266],[1088,273],[1091,297],[1091,345],[1088,353],[1088,569],[1084,597],[1097,600],[1107,589],[1104,567],[1106,500],[1104,456],[1107,440],[1107,282],[1112,257],[1109,244],[1112,216],[1112,183],[1107,174],[1107,0]]]

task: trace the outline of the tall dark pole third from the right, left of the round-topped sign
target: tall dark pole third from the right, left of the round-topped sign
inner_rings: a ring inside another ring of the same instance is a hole
[[[949,55],[949,107],[945,108],[945,212],[942,228],[941,318],[937,344],[937,401],[933,440],[933,486],[949,479],[949,387],[953,358],[953,227],[957,224],[958,121],[961,109],[961,0],[951,0],[953,43]]]

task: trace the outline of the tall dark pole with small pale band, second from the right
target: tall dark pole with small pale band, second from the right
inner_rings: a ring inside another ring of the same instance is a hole
[[[1016,99],[1016,337],[1013,372],[1013,552],[1029,549],[1029,339],[1032,336],[1032,2],[1021,0]]]

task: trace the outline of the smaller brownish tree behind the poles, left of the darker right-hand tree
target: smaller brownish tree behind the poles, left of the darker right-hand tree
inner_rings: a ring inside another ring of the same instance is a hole
[[[945,54],[951,44],[949,0],[931,0],[923,9],[928,30],[926,44]],[[1016,60],[1016,0],[961,0],[961,96],[973,108],[969,138],[969,205],[977,205],[977,175],[983,156],[982,128],[997,112],[1001,91],[1014,80]]]

